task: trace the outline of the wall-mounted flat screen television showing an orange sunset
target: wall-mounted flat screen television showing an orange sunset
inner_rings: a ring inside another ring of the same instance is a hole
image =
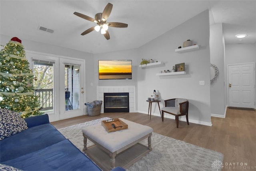
[[[99,60],[99,79],[132,79],[132,60]]]

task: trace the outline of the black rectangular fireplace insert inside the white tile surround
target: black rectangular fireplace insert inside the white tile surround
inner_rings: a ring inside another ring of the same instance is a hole
[[[104,113],[129,112],[129,93],[104,93]]]

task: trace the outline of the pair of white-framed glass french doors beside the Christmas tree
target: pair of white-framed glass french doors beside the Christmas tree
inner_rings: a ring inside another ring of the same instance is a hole
[[[84,115],[85,60],[26,52],[35,91],[50,122]]]

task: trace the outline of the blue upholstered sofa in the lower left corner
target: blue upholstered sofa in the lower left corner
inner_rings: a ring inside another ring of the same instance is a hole
[[[26,171],[100,171],[49,123],[47,114],[25,119],[28,129],[0,141],[0,163]],[[82,133],[81,133],[82,134]],[[113,171],[125,171],[116,167]]]

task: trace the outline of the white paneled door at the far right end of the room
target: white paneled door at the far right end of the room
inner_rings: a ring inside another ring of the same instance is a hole
[[[254,64],[228,66],[228,104],[230,107],[254,108]]]

